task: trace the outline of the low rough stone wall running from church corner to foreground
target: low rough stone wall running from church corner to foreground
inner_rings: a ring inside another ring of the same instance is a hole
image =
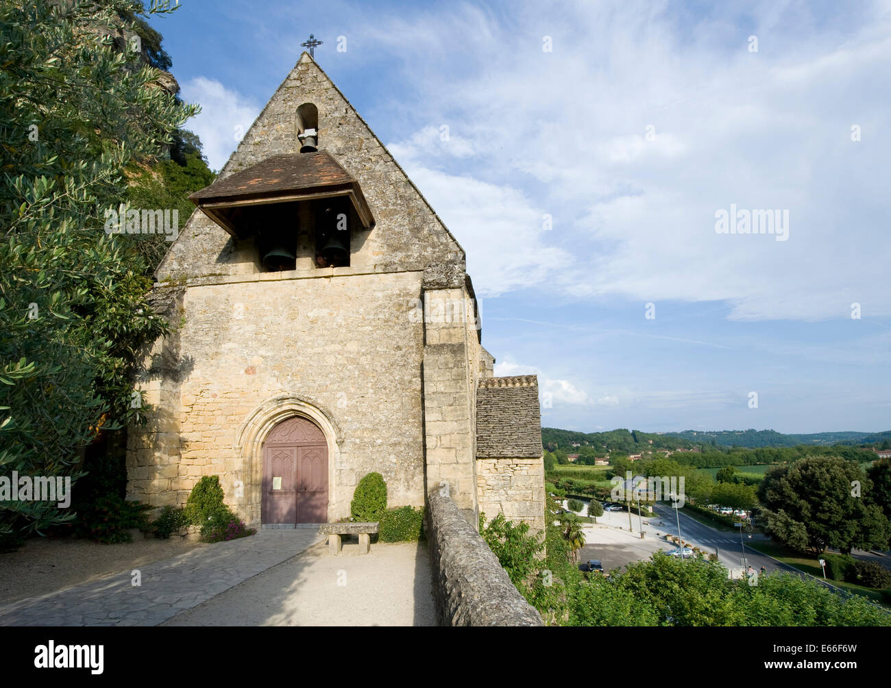
[[[498,558],[443,490],[429,496],[427,538],[437,615],[444,626],[542,626]]]

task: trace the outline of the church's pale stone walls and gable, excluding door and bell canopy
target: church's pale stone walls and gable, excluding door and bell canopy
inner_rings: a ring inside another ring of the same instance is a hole
[[[287,206],[294,269],[264,271],[254,237],[192,214],[152,294],[174,332],[146,355],[139,384],[151,409],[148,424],[128,432],[128,498],[183,505],[201,476],[219,475],[226,502],[257,526],[266,435],[302,416],[327,442],[329,521],[349,513],[372,471],[387,482],[390,506],[421,506],[447,482],[471,522],[481,495],[544,518],[537,492],[519,489],[539,480],[544,493],[534,465],[511,464],[506,486],[487,467],[480,487],[478,388],[503,378],[480,344],[462,247],[307,53],[220,179],[297,154],[306,103],[318,110],[318,148],[361,186],[374,223],[350,232],[347,266],[318,267],[306,207]],[[540,426],[531,432],[541,463]],[[527,498],[528,508],[509,505]]]

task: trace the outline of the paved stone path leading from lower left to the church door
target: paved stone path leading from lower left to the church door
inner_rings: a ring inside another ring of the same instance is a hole
[[[0,626],[155,626],[321,542],[315,530],[259,530],[49,595],[0,605]]]

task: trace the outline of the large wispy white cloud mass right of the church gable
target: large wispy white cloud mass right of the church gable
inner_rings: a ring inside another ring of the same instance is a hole
[[[413,116],[460,123],[452,149],[422,125],[393,150],[468,249],[482,293],[724,301],[735,320],[846,317],[852,302],[891,314],[878,260],[891,254],[891,103],[874,87],[891,71],[891,20],[879,5],[839,28],[819,8],[756,4],[740,36],[716,10],[565,10],[546,29],[534,3],[509,25],[460,5],[376,29],[417,75]],[[437,36],[418,35],[431,26]],[[443,47],[454,41],[475,47]],[[731,204],[788,209],[789,240],[716,234],[715,210]]]

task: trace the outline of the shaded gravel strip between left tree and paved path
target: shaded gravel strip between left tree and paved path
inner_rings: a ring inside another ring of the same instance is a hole
[[[31,538],[16,552],[0,554],[0,603],[46,595],[204,546],[207,544],[185,542],[180,537],[138,539],[118,545],[73,538]]]

